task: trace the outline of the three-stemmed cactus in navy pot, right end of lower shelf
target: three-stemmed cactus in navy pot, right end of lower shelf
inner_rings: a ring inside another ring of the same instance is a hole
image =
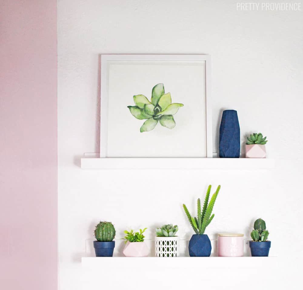
[[[249,247],[252,257],[268,257],[271,246],[268,238],[268,230],[266,230],[265,221],[258,218],[254,223],[254,229],[251,232],[252,241],[249,241]]]

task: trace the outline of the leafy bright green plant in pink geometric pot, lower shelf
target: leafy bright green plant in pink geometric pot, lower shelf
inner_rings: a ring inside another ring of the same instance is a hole
[[[143,233],[147,228],[141,229],[140,232],[130,232],[124,231],[126,236],[123,238],[125,240],[125,247],[123,249],[123,254],[125,257],[147,257],[149,253],[148,246],[144,242],[145,236]]]

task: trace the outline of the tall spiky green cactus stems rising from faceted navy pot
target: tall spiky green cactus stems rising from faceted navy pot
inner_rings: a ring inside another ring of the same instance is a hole
[[[185,204],[183,204],[183,208],[185,211],[185,214],[188,218],[189,223],[191,224],[191,227],[195,231],[196,234],[203,235],[205,232],[206,227],[210,224],[212,219],[214,218],[214,214],[211,215],[212,209],[214,208],[216,198],[218,196],[218,193],[220,191],[221,185],[217,187],[217,190],[215,193],[212,195],[210,202],[208,203],[209,200],[209,195],[211,191],[211,185],[208,186],[205,200],[204,200],[204,205],[203,209],[201,210],[201,201],[200,198],[198,198],[198,218],[192,217],[186,207]]]

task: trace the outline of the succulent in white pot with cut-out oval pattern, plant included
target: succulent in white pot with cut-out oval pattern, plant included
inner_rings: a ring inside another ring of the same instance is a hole
[[[162,225],[156,229],[155,253],[156,257],[178,257],[179,237],[177,225]]]

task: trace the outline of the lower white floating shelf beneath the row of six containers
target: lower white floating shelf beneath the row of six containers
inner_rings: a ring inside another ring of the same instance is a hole
[[[116,271],[117,268],[150,269],[159,268],[214,268],[214,267],[275,267],[277,257],[82,257],[82,267],[92,267],[100,271]]]

